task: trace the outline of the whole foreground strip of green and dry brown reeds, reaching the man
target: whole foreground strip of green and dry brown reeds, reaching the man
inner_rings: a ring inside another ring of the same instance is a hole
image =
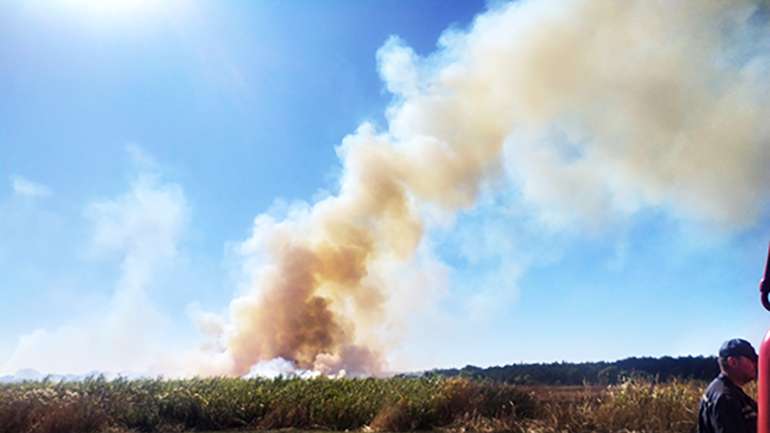
[[[691,433],[705,385],[518,387],[439,377],[43,381],[0,385],[0,432]]]

